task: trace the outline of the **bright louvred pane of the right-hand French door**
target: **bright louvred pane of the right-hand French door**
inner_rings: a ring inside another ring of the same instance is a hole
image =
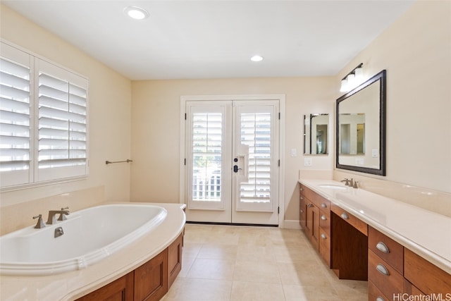
[[[249,180],[240,202],[271,202],[271,113],[241,114],[241,144],[249,147]]]

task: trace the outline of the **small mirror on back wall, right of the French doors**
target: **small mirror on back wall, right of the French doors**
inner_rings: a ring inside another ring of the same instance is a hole
[[[304,154],[328,154],[329,114],[304,115]]]

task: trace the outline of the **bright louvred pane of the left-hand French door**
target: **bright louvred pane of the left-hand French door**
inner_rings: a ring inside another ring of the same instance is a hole
[[[221,202],[222,114],[192,115],[192,199]]]

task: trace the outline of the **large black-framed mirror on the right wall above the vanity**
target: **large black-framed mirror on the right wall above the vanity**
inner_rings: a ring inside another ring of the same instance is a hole
[[[386,70],[337,99],[337,168],[385,176]]]

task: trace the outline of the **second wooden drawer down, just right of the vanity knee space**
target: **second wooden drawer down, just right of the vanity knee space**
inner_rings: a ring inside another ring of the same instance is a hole
[[[368,280],[385,296],[402,293],[404,277],[371,250],[368,250]]]

